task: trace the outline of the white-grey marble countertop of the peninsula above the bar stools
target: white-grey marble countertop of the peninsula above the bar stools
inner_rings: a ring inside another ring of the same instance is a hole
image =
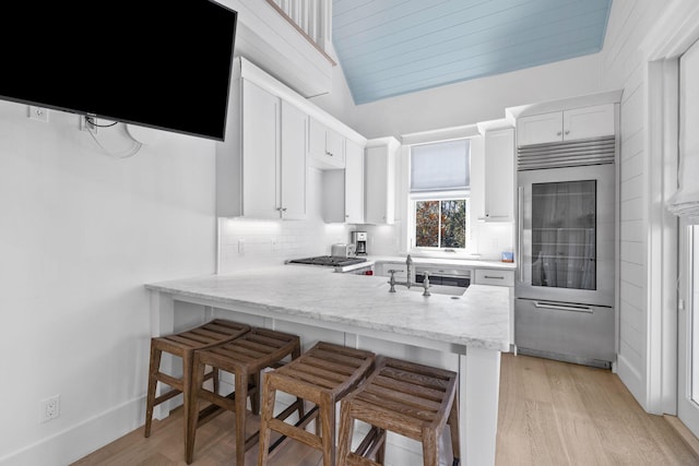
[[[374,258],[371,258],[374,259]],[[228,275],[146,284],[153,291],[246,306],[268,312],[398,333],[484,349],[508,350],[510,287],[471,285],[463,296],[422,295],[386,277],[337,274],[287,264]]]

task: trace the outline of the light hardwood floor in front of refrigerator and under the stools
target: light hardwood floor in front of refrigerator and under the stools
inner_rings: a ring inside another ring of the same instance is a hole
[[[232,465],[233,415],[224,413],[197,434],[194,465]],[[254,429],[251,425],[250,428]],[[257,447],[246,455],[256,464]],[[497,466],[699,465],[679,434],[641,409],[608,370],[502,355]],[[74,463],[183,465],[181,414],[154,422],[150,439],[138,429]],[[317,466],[318,452],[293,442],[274,466]],[[412,466],[412,465],[395,465]]]

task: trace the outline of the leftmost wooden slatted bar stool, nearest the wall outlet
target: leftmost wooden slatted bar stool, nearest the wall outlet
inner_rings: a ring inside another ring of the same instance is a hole
[[[249,331],[249,325],[224,319],[215,319],[196,328],[151,338],[151,362],[145,404],[144,435],[146,438],[151,437],[153,408],[161,403],[179,395],[180,393],[183,394],[185,398],[185,421],[187,421],[187,408],[191,395],[192,356],[194,350],[235,339]],[[181,358],[181,378],[173,377],[161,371],[163,351]],[[216,377],[215,371],[209,372],[205,379],[213,379],[214,387],[218,387],[218,378]],[[170,390],[156,398],[155,389],[157,387],[158,382],[169,385]]]

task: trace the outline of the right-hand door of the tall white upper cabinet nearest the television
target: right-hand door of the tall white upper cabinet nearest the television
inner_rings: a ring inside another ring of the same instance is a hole
[[[306,126],[308,116],[282,100],[282,218],[306,218]]]

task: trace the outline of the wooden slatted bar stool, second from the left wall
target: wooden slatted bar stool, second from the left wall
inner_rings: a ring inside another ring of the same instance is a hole
[[[260,411],[260,372],[265,368],[276,368],[284,365],[283,359],[292,360],[300,356],[300,339],[296,335],[266,328],[252,327],[244,336],[223,345],[194,351],[192,362],[192,399],[204,399],[218,407],[234,411],[236,415],[236,464],[244,466],[245,452],[258,441],[259,431],[246,439],[247,398],[250,396],[252,413]],[[230,372],[235,375],[235,391],[228,395],[205,390],[202,386],[205,366]],[[191,464],[194,456],[194,441],[199,416],[197,403],[190,405],[187,425],[187,441],[185,444],[187,464]],[[304,416],[304,404],[297,399],[285,413],[298,410]],[[209,419],[202,419],[202,423]]]

